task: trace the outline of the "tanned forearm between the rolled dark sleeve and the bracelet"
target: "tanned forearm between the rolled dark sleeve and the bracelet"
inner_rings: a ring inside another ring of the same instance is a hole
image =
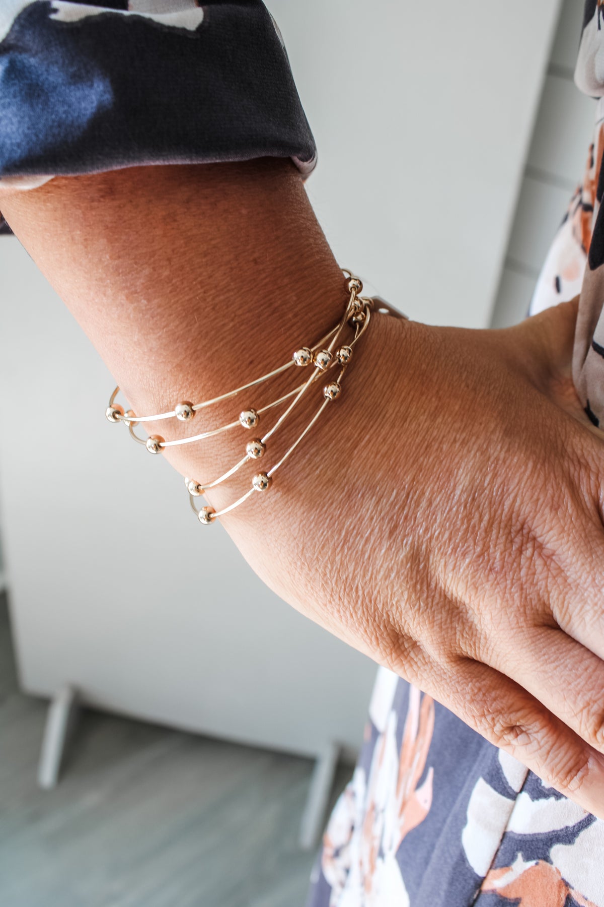
[[[264,374],[321,336],[346,301],[290,161],[63,178],[3,197],[2,208],[139,414]],[[212,424],[238,405],[213,407]],[[199,422],[146,427],[169,439]],[[167,451],[199,477],[232,452],[232,434]]]

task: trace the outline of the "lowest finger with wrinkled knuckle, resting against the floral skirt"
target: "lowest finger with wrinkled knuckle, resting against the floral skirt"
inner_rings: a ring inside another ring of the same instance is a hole
[[[604,819],[604,756],[494,668],[461,658],[454,674],[453,694],[436,698],[546,785]]]

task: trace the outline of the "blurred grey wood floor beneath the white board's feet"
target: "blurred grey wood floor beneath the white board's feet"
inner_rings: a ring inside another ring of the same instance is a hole
[[[43,792],[44,718],[0,597],[0,907],[302,907],[308,760],[86,710]]]

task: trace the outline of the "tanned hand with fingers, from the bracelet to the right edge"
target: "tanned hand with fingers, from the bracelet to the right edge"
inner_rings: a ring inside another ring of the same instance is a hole
[[[376,317],[325,422],[224,522],[285,600],[604,818],[604,446],[575,316]]]

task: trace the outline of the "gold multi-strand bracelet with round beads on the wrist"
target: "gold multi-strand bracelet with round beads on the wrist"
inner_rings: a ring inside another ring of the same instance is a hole
[[[350,359],[352,358],[353,350],[356,344],[359,342],[360,337],[363,336],[367,328],[369,327],[369,319],[371,317],[371,312],[374,309],[374,305],[377,300],[368,297],[361,297],[360,292],[362,290],[362,283],[359,278],[354,277],[350,274],[350,271],[344,271],[346,275],[346,286],[350,294],[348,303],[346,305],[343,316],[340,318],[340,321],[335,327],[332,327],[327,334],[322,336],[316,343],[312,346],[301,346],[299,349],[296,349],[293,353],[291,359],[289,359],[282,366],[274,368],[273,371],[268,372],[266,375],[262,375],[259,378],[255,378],[254,381],[249,381],[241,387],[235,387],[235,390],[228,391],[226,394],[221,394],[220,396],[213,397],[211,400],[204,400],[201,403],[192,404],[188,401],[178,403],[174,409],[170,410],[168,413],[158,413],[154,415],[136,415],[132,410],[124,412],[123,406],[116,404],[115,400],[120,391],[119,387],[116,387],[113,393],[110,396],[109,406],[105,411],[107,419],[112,423],[123,422],[127,425],[129,433],[139,444],[144,444],[149,453],[162,453],[167,447],[174,447],[178,444],[192,444],[197,441],[203,441],[206,438],[215,437],[217,434],[222,434],[223,432],[229,431],[232,428],[235,428],[237,425],[243,426],[244,429],[250,430],[256,428],[260,423],[261,415],[265,412],[270,411],[273,407],[283,405],[290,401],[289,405],[285,408],[283,413],[275,421],[273,426],[261,437],[256,437],[252,441],[249,441],[245,445],[245,455],[239,460],[235,465],[231,466],[230,469],[226,470],[225,473],[218,476],[217,479],[212,480],[211,482],[197,482],[195,479],[185,479],[187,484],[187,491],[189,493],[189,501],[194,512],[197,514],[199,522],[208,524],[210,522],[215,522],[219,517],[224,516],[225,513],[228,513],[232,510],[235,510],[235,507],[238,507],[239,504],[242,504],[246,501],[251,494],[254,492],[264,492],[266,491],[271,483],[273,482],[273,475],[276,471],[283,465],[287,458],[293,453],[298,444],[301,443],[305,435],[311,430],[312,425],[315,424],[317,419],[320,417],[321,413],[325,407],[333,400],[338,399],[341,391],[341,381],[344,373],[346,372],[347,366],[350,364]],[[388,312],[388,314],[398,315],[395,309],[392,309],[383,303],[382,300],[379,300],[379,311]],[[404,317],[404,316],[402,316]],[[348,339],[348,342],[343,341],[344,331],[349,328],[352,332],[352,336]],[[174,441],[165,441],[158,434],[151,434],[147,439],[140,438],[138,434],[135,433],[134,427],[139,423],[145,422],[158,422],[162,419],[177,419],[180,422],[189,422],[193,419],[196,414],[202,410],[206,409],[208,406],[212,406],[222,401],[228,400],[235,395],[241,394],[243,391],[249,390],[252,387],[257,385],[264,384],[265,381],[269,381],[271,378],[276,377],[277,375],[282,375],[287,369],[292,366],[312,366],[312,374],[302,382],[302,384],[294,387],[287,394],[283,394],[278,397],[278,399],[273,400],[272,403],[261,406],[257,409],[250,407],[249,409],[243,410],[239,414],[239,417],[233,422],[229,422],[225,425],[221,425],[218,428],[210,429],[206,432],[201,432],[199,434],[193,434],[185,438],[179,438]],[[302,396],[307,392],[309,387],[317,382],[320,377],[327,375],[329,377],[329,372],[331,369],[337,371],[337,375],[331,377],[331,380],[328,380],[322,387],[322,401],[321,405],[318,407],[315,414],[312,416],[311,421],[306,425],[304,430],[295,441],[290,445],[290,447],[283,453],[283,456],[273,463],[270,469],[267,469],[265,472],[256,473],[252,479],[252,485],[240,498],[237,498],[236,501],[229,504],[227,507],[224,507],[222,510],[216,511],[213,507],[205,506],[200,510],[197,510],[195,505],[195,499],[202,494],[205,494],[208,489],[216,488],[216,485],[223,483],[226,479],[230,478],[239,469],[244,466],[244,463],[247,463],[250,460],[259,460],[266,453],[267,441],[273,436],[280,426],[283,425],[283,422],[292,413],[295,406],[300,402]]]

